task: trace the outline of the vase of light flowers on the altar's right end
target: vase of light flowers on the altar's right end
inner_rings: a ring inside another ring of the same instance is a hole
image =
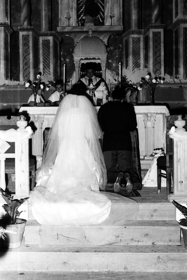
[[[165,78],[157,77],[157,76],[153,78],[151,73],[148,73],[148,75],[145,78],[141,77],[139,89],[141,89],[142,87],[147,87],[149,89],[150,97],[151,97],[150,105],[153,105],[154,103],[154,91],[156,87],[158,87],[159,83],[163,84],[164,80]]]

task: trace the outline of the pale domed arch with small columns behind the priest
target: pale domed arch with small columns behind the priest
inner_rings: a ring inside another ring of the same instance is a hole
[[[92,34],[92,32],[91,32]],[[101,64],[102,77],[105,79],[107,51],[105,44],[96,36],[83,37],[75,46],[73,53],[76,81],[80,78],[80,66],[86,62]]]

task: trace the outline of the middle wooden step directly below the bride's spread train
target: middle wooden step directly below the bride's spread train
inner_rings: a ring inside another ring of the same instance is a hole
[[[45,232],[46,230],[46,232]],[[180,227],[174,221],[129,221],[125,226],[52,226],[40,227],[35,220],[28,221],[25,226],[25,244],[68,245],[180,245]],[[80,240],[80,235],[84,239]],[[103,237],[105,236],[105,238]]]

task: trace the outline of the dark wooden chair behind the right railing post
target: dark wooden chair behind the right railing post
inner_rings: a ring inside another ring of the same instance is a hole
[[[183,118],[187,119],[187,115]],[[157,159],[157,185],[158,193],[161,190],[161,177],[166,178],[167,195],[171,193],[172,177],[173,177],[173,140],[169,138],[169,130],[174,125],[174,121],[177,120],[177,115],[171,115],[166,117],[166,155],[158,157]],[[187,123],[184,126],[187,128]],[[166,173],[163,173],[164,170]]]

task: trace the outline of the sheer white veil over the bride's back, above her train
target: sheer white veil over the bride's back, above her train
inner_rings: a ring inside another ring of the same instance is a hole
[[[99,186],[105,186],[107,182],[99,143],[101,137],[97,113],[88,98],[72,94],[65,96],[49,132],[41,172],[37,172],[38,185],[42,183],[45,188],[54,189],[53,192],[57,193],[62,191],[62,186],[64,191],[72,184],[99,191]],[[44,177],[51,171],[54,177]],[[47,182],[42,182],[45,178]]]

